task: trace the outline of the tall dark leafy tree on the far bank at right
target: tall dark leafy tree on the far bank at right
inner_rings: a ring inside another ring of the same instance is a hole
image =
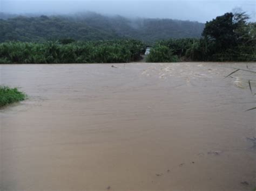
[[[256,23],[245,13],[226,13],[206,23],[204,59],[256,60]]]

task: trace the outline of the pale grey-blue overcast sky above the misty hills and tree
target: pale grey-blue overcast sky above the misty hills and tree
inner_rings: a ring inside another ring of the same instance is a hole
[[[9,13],[63,14],[93,11],[125,17],[172,18],[205,23],[234,8],[246,11],[255,22],[256,1],[145,1],[145,0],[0,0],[0,11]]]

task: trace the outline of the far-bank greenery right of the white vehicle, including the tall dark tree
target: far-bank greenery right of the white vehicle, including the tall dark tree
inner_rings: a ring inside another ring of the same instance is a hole
[[[193,61],[255,61],[256,23],[248,23],[245,13],[226,13],[207,22],[200,39],[170,39],[158,41],[151,51],[154,62],[162,61],[164,49],[180,60]],[[165,57],[166,58],[166,57]],[[149,59],[151,61],[152,59]],[[173,58],[164,59],[173,61]]]

